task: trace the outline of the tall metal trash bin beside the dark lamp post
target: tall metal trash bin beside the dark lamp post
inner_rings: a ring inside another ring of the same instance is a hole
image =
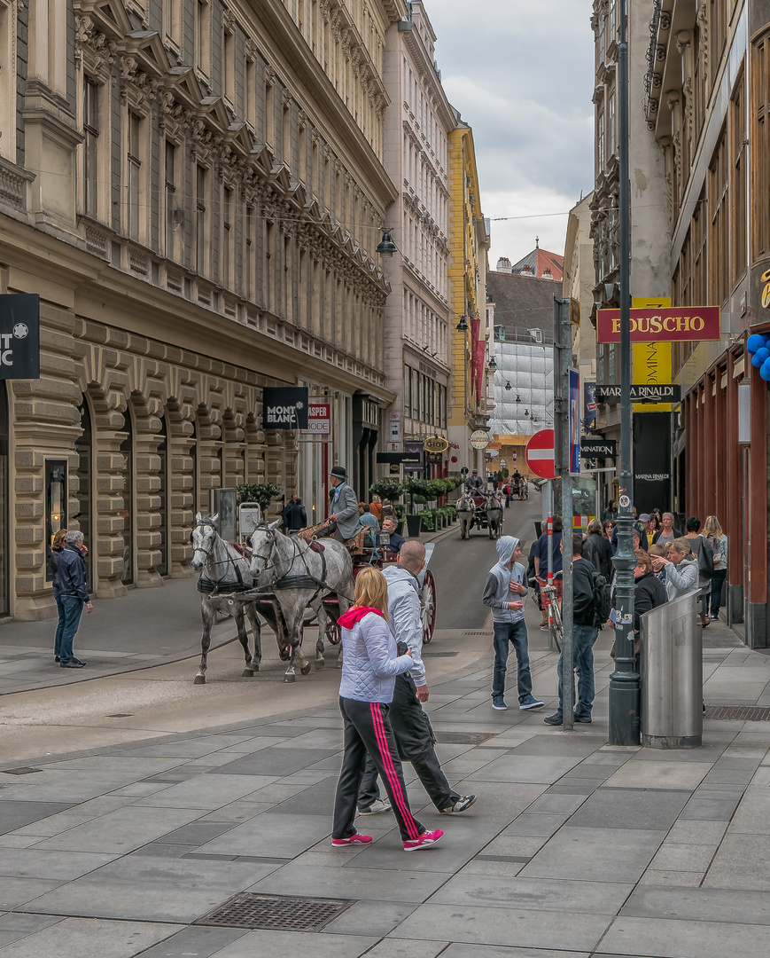
[[[698,592],[689,592],[640,618],[642,744],[647,748],[703,746],[703,629]]]

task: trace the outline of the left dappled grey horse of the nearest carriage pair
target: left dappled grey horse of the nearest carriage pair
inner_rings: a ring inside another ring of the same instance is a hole
[[[211,627],[216,622],[217,613],[230,615],[238,629],[238,640],[243,646],[245,677],[259,672],[262,661],[259,617],[253,601],[238,600],[233,593],[252,587],[249,572],[249,559],[244,558],[229,542],[217,532],[218,515],[204,516],[197,513],[195,528],[190,534],[192,542],[192,568],[200,570],[198,591],[201,593],[201,618],[203,635],[201,636],[201,664],[195,676],[195,685],[206,684],[206,667],[211,646]],[[249,636],[245,619],[252,625],[254,637],[253,654],[249,650]]]

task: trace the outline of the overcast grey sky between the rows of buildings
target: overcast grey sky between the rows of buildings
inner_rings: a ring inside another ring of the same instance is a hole
[[[563,254],[593,186],[591,0],[426,0],[444,89],[473,127],[490,265]],[[534,216],[537,215],[537,218]],[[495,217],[530,217],[495,222]]]

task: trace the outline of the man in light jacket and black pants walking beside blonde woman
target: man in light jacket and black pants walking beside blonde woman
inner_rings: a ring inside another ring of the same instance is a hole
[[[425,546],[422,542],[407,539],[399,552],[398,564],[388,565],[383,570],[387,580],[390,628],[396,641],[408,647],[412,658],[409,672],[396,678],[388,718],[401,760],[411,763],[433,805],[443,814],[450,814],[470,809],[476,796],[459,795],[447,781],[436,755],[433,729],[421,704],[429,697],[422,660],[423,623],[417,580],[424,565]],[[403,646],[399,649],[406,651]],[[390,805],[380,798],[377,771],[367,756],[359,790],[359,814],[379,811],[390,811]]]

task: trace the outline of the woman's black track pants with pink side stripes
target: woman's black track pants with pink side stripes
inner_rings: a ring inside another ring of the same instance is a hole
[[[426,829],[409,810],[404,773],[387,718],[387,706],[381,702],[341,698],[340,711],[344,719],[345,751],[334,802],[332,838],[349,838],[357,831],[354,822],[367,752],[385,785],[402,839],[417,838]]]

